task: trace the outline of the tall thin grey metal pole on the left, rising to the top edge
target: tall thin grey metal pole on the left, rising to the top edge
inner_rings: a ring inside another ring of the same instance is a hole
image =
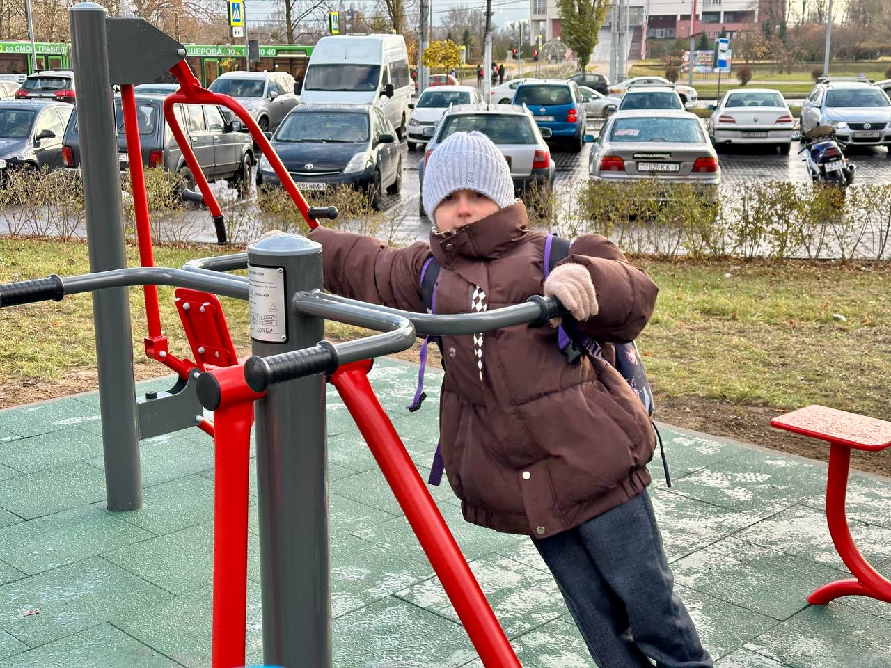
[[[91,272],[127,266],[107,16],[105,8],[95,3],[76,4],[69,10]],[[94,292],[93,322],[108,509],[134,510],[143,505],[143,485],[127,289]]]

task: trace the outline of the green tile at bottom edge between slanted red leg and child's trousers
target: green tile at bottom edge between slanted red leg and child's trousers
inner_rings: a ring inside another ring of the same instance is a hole
[[[596,668],[576,625],[559,619],[512,639],[511,647],[523,668]],[[483,668],[483,662],[463,668]]]

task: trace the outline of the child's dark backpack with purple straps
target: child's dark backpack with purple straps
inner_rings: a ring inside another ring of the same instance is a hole
[[[571,242],[562,239],[556,234],[548,234],[547,240],[544,242],[544,278],[551,273],[552,267],[560,260],[569,255],[569,246]],[[436,312],[436,284],[439,277],[439,263],[436,258],[430,256],[421,267],[421,299],[427,312],[432,314]],[[427,366],[427,346],[431,340],[435,340],[442,353],[442,339],[439,337],[428,336],[424,338],[421,344],[421,367],[418,371],[418,388],[414,393],[414,400],[405,406],[410,412],[417,411],[421,408],[421,403],[427,398],[424,388],[424,370]],[[585,336],[578,330],[578,323],[570,315],[564,315],[561,320],[557,333],[557,345],[560,351],[566,355],[568,363],[575,363],[583,354],[592,357],[601,357],[601,346],[593,338]],[[630,343],[612,344],[616,351],[616,371],[634,390],[634,394],[643,403],[647,409],[647,413],[653,414],[653,395],[650,390],[650,381],[647,379],[647,373],[643,368],[643,360],[634,341]],[[656,424],[650,420],[653,430],[656,433],[659,444],[659,453],[662,457],[662,466],[666,474],[666,485],[671,487],[671,475],[668,473],[668,462],[666,460],[665,447],[662,444],[662,435],[659,434]],[[430,476],[428,483],[430,485],[439,485],[442,481],[443,461],[442,448],[437,444],[437,452],[433,457],[433,464],[430,467]]]

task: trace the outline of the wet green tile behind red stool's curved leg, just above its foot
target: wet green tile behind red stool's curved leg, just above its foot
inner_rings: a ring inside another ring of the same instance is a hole
[[[849,526],[854,543],[868,562],[880,564],[891,558],[891,529],[855,521]],[[794,506],[749,526],[737,537],[848,572],[832,543],[826,515],[819,510]]]

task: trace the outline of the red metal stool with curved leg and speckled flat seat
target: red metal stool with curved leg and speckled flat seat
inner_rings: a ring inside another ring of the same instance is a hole
[[[851,450],[877,452],[891,446],[891,422],[813,405],[774,418],[771,426],[830,444],[826,521],[838,555],[854,579],[824,584],[807,597],[808,603],[822,606],[840,596],[866,596],[891,603],[891,581],[879,574],[857,549],[845,511]]]

